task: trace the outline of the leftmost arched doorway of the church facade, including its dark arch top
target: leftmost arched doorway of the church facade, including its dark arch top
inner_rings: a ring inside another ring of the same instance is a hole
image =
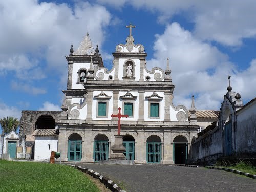
[[[68,161],[81,161],[82,158],[82,137],[73,133],[68,141]]]

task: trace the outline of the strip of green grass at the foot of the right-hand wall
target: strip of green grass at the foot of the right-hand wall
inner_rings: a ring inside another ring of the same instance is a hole
[[[245,162],[245,161],[240,161],[237,164],[229,164],[227,162],[222,161],[222,162],[217,162],[215,165],[220,167],[240,170],[241,172],[256,175],[256,167],[252,166],[249,162]]]

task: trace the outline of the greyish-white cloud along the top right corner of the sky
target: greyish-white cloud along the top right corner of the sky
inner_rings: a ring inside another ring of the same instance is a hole
[[[204,40],[214,40],[227,46],[240,46],[244,38],[256,37],[256,1],[180,1],[180,0],[130,0],[100,3],[156,12],[160,22],[174,15],[182,15],[195,24],[194,33]]]

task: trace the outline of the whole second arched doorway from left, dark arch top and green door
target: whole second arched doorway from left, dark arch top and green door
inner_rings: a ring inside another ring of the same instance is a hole
[[[109,139],[104,134],[94,138],[93,159],[95,162],[107,160],[109,156]]]

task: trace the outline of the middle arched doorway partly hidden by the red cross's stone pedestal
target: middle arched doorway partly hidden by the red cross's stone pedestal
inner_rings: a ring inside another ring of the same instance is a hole
[[[123,153],[126,157],[126,160],[134,160],[134,146],[135,139],[131,135],[123,136],[123,146],[126,148],[126,151]]]

